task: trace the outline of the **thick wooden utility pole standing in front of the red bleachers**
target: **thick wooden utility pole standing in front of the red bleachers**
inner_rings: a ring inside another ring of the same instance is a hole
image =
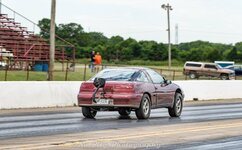
[[[51,22],[50,22],[50,56],[48,80],[53,81],[53,71],[55,63],[55,11],[56,0],[51,1]]]

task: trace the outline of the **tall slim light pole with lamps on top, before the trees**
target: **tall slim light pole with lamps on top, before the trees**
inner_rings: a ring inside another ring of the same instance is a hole
[[[167,11],[167,22],[168,22],[168,66],[169,70],[171,69],[171,34],[170,34],[170,10],[172,10],[171,6],[169,4],[161,5],[161,8],[165,9]]]

